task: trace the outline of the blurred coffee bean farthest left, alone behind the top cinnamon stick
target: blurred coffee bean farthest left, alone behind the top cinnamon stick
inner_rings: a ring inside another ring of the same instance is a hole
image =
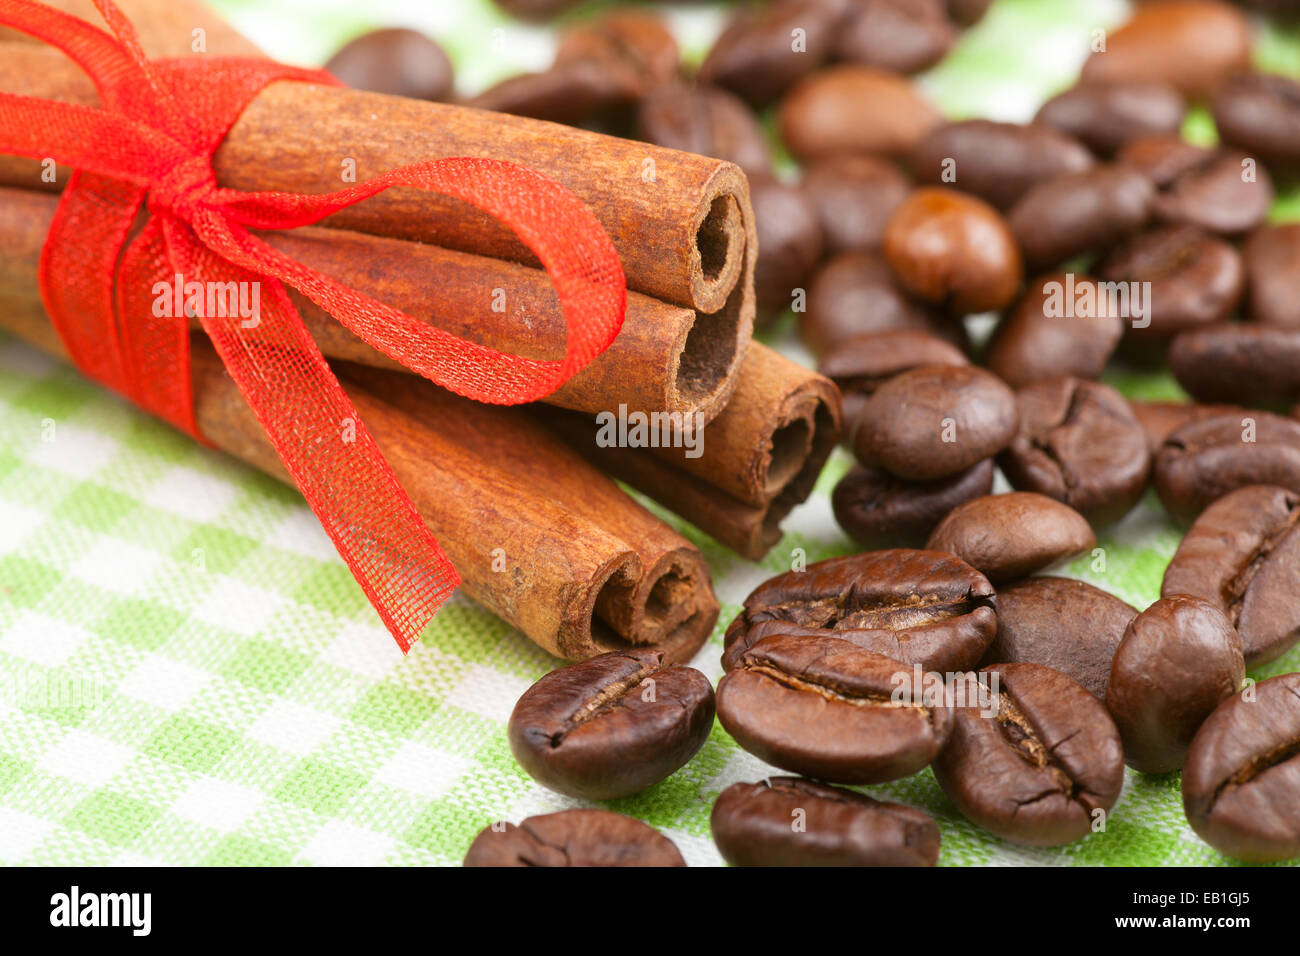
[[[437,43],[415,30],[373,30],[342,47],[325,70],[354,90],[410,96],[451,98],[451,60]]]

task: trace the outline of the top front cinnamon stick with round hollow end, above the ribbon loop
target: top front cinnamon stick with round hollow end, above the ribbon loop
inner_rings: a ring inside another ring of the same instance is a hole
[[[70,60],[34,43],[0,47],[0,90],[99,101]],[[213,168],[233,189],[328,193],[347,185],[348,172],[360,181],[451,156],[515,161],[568,187],[604,226],[634,291],[712,315],[738,287],[738,342],[748,341],[757,234],[749,183],[731,163],[468,107],[277,82],[244,109]],[[0,161],[5,185],[61,189],[65,181],[43,183],[31,160]],[[536,264],[497,220],[424,190],[387,190],[324,224]]]

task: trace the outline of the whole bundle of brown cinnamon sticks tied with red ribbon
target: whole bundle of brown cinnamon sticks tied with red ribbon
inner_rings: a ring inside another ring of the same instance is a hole
[[[196,26],[209,53],[252,52],[190,0],[118,1],[151,56],[188,52]],[[90,0],[52,5],[100,22]],[[98,104],[70,60],[9,33],[0,36],[0,90]],[[560,657],[638,644],[686,659],[719,611],[708,567],[608,476],[758,558],[811,492],[840,429],[828,380],[750,342],[755,237],[745,177],[720,160],[552,124],[304,83],[263,90],[214,169],[221,186],[324,193],[344,185],[343,169],[367,178],[448,156],[520,163],[588,203],[629,287],[623,330],[606,352],[545,406],[484,406],[408,373],[304,297],[295,304],[471,597]],[[49,177],[0,156],[0,328],[60,356],[38,269],[66,181],[68,170]],[[563,354],[564,317],[546,273],[504,226],[458,200],[395,189],[320,226],[263,238],[456,336],[530,358]],[[202,434],[287,477],[203,334],[194,338]],[[703,429],[686,446],[620,446],[602,438],[597,418],[615,414]]]

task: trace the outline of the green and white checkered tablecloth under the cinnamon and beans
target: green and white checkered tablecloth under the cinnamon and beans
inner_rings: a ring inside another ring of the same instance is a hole
[[[421,26],[471,88],[545,65],[550,43],[486,0],[218,5],[299,62],[367,26]],[[671,16],[698,55],[722,14]],[[953,116],[1024,118],[1070,82],[1089,31],[1123,16],[1113,0],[1000,0],[926,88]],[[1261,59],[1300,73],[1300,35],[1269,33]],[[1287,206],[1300,211],[1294,195],[1279,215]],[[775,342],[798,355],[788,333]],[[1164,377],[1112,381],[1176,394]],[[686,529],[724,604],[696,661],[711,678],[723,627],[792,549],[850,550],[829,507],[846,468],[838,454],[760,566]],[[1176,542],[1148,499],[1102,536],[1105,567],[1070,572],[1145,606]],[[0,861],[458,862],[493,821],[575,805],[533,784],[506,744],[515,700],[554,666],[460,597],[403,659],[294,492],[0,337]],[[1300,649],[1254,676],[1297,669]],[[718,864],[714,797],[770,770],[715,727],[682,771],[608,806],[660,827],[690,864]],[[870,792],[937,817],[949,865],[1227,862],[1188,830],[1176,774],[1128,773],[1108,831],[1061,849],[983,834],[930,771]]]

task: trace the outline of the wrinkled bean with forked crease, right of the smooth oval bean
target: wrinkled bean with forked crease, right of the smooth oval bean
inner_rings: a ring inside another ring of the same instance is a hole
[[[1014,488],[1063,501],[1093,525],[1118,522],[1147,488],[1147,433],[1109,385],[1053,378],[1015,393],[1020,428],[998,457]]]

